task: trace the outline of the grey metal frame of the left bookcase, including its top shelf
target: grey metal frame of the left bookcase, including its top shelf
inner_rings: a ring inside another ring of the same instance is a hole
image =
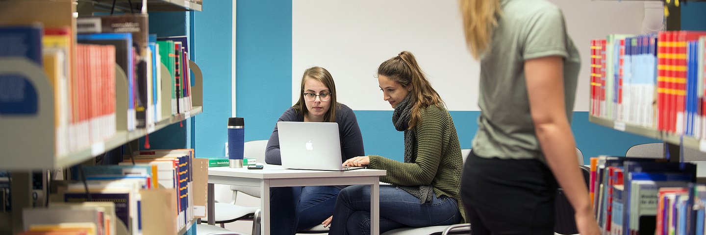
[[[197,3],[190,0],[131,0],[133,3],[132,10],[136,13],[148,11],[201,11],[202,5],[200,1]],[[45,27],[59,27],[60,25],[76,25],[75,19],[71,16],[71,11],[76,13],[91,13],[110,11],[112,0],[73,0],[73,1],[41,1],[40,6],[36,11],[22,10],[27,4],[36,4],[37,1],[0,1],[7,8],[0,7],[0,21],[2,23],[18,23],[26,20],[39,20],[45,23]],[[71,10],[66,8],[66,4],[61,4],[61,8],[52,8],[59,6],[60,2],[72,2]],[[18,9],[15,9],[17,6]],[[117,0],[116,8],[119,11],[130,12],[131,6],[128,5],[128,0]],[[34,9],[34,8],[32,8]],[[139,10],[139,11],[136,11]],[[44,12],[54,11],[52,14]],[[59,13],[56,13],[59,12]],[[65,12],[65,13],[61,13]],[[53,23],[53,24],[52,24]],[[75,26],[74,26],[75,27]],[[74,28],[75,29],[75,28]],[[75,32],[73,32],[75,35]],[[35,191],[32,188],[32,173],[30,171],[49,169],[63,169],[71,167],[81,162],[90,161],[97,155],[100,155],[108,150],[112,150],[121,145],[136,143],[138,138],[159,131],[174,123],[179,123],[190,119],[192,116],[203,112],[203,91],[202,82],[203,75],[201,69],[193,61],[188,61],[191,72],[193,73],[193,81],[191,84],[192,109],[188,112],[176,115],[167,115],[168,117],[156,121],[147,128],[136,128],[134,131],[127,131],[126,116],[117,115],[116,117],[116,134],[111,138],[90,144],[88,147],[71,150],[63,154],[56,152],[56,137],[54,135],[54,90],[49,83],[48,76],[44,73],[41,66],[37,66],[29,59],[20,57],[4,57],[0,58],[0,74],[14,74],[25,77],[30,86],[35,90],[37,95],[37,112],[35,114],[25,116],[1,116],[0,115],[0,150],[3,153],[0,155],[0,169],[11,171],[11,212],[0,212],[0,234],[15,234],[23,229],[23,207],[44,207],[44,205],[33,205],[32,199]],[[167,67],[162,64],[158,68],[159,73],[169,73]],[[120,66],[115,66],[116,73],[116,114],[125,114],[127,109],[127,78]],[[162,75],[164,76],[164,75]],[[162,87],[166,88],[172,85],[168,79],[162,80]],[[173,86],[173,85],[172,85]],[[163,92],[162,99],[167,97],[169,93]],[[170,110],[169,102],[162,102],[162,107],[156,109]],[[169,114],[169,112],[164,112]],[[47,185],[44,184],[46,187]],[[205,184],[204,184],[205,188]],[[193,224],[196,224],[196,219],[186,222],[186,226],[181,228],[177,234],[189,234],[193,232]]]

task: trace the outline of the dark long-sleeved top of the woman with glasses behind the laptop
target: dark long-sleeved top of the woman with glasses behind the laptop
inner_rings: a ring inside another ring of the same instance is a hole
[[[304,121],[304,116],[298,114],[293,107],[289,107],[277,121]],[[364,156],[363,135],[360,132],[358,120],[355,117],[353,109],[347,107],[345,104],[339,103],[336,110],[336,123],[338,123],[338,134],[341,140],[341,163],[351,157]],[[270,140],[267,143],[265,162],[267,164],[282,164],[280,156],[280,135],[277,132],[276,124],[275,130],[272,131]]]

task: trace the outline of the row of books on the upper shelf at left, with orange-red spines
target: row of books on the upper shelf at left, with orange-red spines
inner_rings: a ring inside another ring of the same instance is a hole
[[[0,25],[0,57],[30,59],[49,78],[57,155],[111,138],[116,130],[150,128],[191,110],[186,36],[149,35],[146,14],[78,18],[77,25],[78,35],[69,26]],[[125,73],[126,91],[116,90],[115,65]],[[42,94],[28,80],[13,74],[0,74],[0,80],[13,91],[0,96],[0,114],[40,112]],[[118,102],[126,102],[126,110],[117,110]]]

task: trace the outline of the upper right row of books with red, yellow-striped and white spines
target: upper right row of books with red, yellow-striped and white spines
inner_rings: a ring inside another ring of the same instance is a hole
[[[590,114],[702,137],[705,47],[706,32],[686,30],[592,40]]]

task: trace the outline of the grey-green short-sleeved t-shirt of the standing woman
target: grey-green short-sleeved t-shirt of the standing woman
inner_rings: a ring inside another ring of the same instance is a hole
[[[539,159],[525,80],[525,61],[545,56],[564,59],[566,114],[571,120],[580,57],[566,32],[561,9],[546,0],[501,0],[503,16],[489,51],[481,56],[478,131],[473,152],[479,157]]]

